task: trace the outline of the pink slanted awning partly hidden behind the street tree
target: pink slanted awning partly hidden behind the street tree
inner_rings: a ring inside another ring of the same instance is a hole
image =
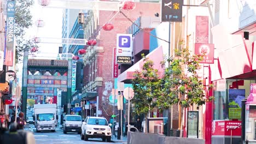
[[[154,62],[154,69],[158,69],[159,76],[161,77],[164,74],[164,69],[162,68],[161,62],[164,60],[164,54],[162,51],[162,46],[159,46],[152,52],[150,52],[146,57]],[[133,74],[136,70],[141,70],[144,64],[143,59],[139,60],[137,63],[132,65],[129,69],[125,70],[118,76],[118,82],[129,83],[133,79]]]

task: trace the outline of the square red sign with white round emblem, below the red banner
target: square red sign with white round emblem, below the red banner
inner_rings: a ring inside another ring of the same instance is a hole
[[[205,55],[200,63],[214,63],[214,44],[195,43],[195,55]]]

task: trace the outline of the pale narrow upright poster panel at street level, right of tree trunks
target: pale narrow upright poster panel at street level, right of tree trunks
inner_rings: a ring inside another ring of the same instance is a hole
[[[198,111],[188,111],[188,137],[198,138]]]

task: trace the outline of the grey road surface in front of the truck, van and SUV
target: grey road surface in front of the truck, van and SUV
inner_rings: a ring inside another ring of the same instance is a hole
[[[60,128],[56,129],[56,132],[39,132],[36,133],[36,128],[34,128],[33,124],[26,125],[25,130],[31,130],[30,127],[33,130],[34,137],[36,139],[37,144],[58,144],[58,143],[75,143],[75,144],[84,144],[84,143],[117,143],[117,144],[123,144],[126,142],[102,142],[102,139],[89,139],[89,141],[84,141],[80,139],[80,135],[77,133],[67,133],[63,134],[63,130]]]

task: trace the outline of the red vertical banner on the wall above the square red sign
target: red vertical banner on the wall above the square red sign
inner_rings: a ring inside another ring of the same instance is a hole
[[[195,43],[208,44],[209,38],[209,17],[196,16],[196,38]]]

